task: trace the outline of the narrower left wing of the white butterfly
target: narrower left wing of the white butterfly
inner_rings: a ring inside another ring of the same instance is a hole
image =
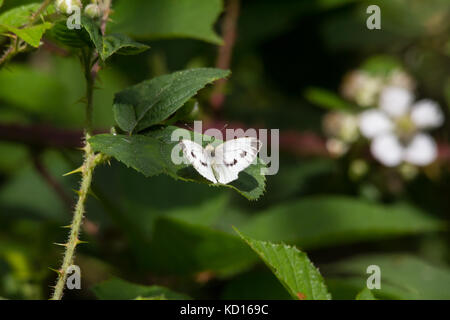
[[[191,140],[183,139],[180,141],[180,145],[184,157],[192,164],[195,170],[209,181],[217,183],[211,168],[211,158],[206,154],[205,149]]]

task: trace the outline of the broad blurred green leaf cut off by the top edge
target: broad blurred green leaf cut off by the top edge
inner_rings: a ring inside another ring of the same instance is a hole
[[[222,40],[214,24],[222,0],[120,0],[114,4],[113,31],[138,39],[193,38],[214,44]]]

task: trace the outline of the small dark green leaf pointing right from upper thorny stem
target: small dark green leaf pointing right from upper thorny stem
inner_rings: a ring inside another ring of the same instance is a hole
[[[146,51],[149,46],[136,42],[124,34],[113,34],[103,38],[102,60],[108,59],[113,54],[133,55]]]

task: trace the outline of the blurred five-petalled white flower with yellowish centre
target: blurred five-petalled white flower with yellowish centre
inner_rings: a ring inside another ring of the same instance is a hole
[[[421,132],[442,125],[444,115],[431,100],[412,104],[412,93],[400,87],[386,87],[379,108],[359,115],[361,134],[371,139],[372,155],[388,167],[407,162],[426,166],[437,157],[434,139]]]

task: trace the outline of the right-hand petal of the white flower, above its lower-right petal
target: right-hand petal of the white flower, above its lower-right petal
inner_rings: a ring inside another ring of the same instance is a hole
[[[444,114],[439,104],[433,100],[424,99],[413,105],[411,119],[419,128],[437,128],[444,123]]]

